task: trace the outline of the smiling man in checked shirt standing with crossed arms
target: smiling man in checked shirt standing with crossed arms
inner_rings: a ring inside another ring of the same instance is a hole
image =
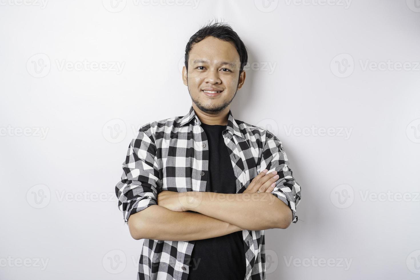
[[[230,26],[204,26],[185,51],[188,113],[131,141],[115,192],[144,239],[137,279],[266,279],[264,230],[297,222],[300,186],[281,141],[230,110],[246,63]]]

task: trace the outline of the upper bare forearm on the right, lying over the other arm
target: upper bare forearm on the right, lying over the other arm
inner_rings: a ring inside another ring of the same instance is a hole
[[[188,192],[185,205],[206,216],[223,220],[247,230],[287,228],[291,209],[271,193],[222,194]]]

